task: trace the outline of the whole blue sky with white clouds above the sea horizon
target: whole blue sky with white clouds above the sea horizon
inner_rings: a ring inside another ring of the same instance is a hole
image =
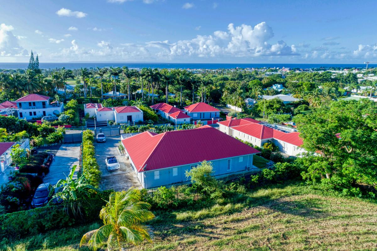
[[[363,63],[375,1],[1,1],[0,62]]]

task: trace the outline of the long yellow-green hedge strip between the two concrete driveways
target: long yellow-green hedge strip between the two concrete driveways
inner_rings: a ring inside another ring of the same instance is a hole
[[[94,135],[91,130],[83,132],[83,174],[90,181],[90,185],[98,187],[101,180],[100,166],[95,159]]]

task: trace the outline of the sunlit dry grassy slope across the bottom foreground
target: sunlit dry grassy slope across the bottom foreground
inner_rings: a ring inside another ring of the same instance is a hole
[[[305,184],[261,188],[233,204],[199,211],[155,214],[150,222],[153,243],[127,250],[377,250],[376,202],[336,197]],[[4,239],[0,248],[79,250],[82,234],[98,227],[93,223],[17,241]]]

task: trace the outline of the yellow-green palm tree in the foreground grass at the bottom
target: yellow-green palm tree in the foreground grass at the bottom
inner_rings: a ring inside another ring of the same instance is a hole
[[[111,193],[100,211],[104,225],[84,234],[80,247],[87,243],[90,249],[97,250],[107,243],[108,250],[122,251],[127,243],[137,245],[144,240],[152,241],[150,227],[143,224],[155,217],[149,209],[150,204],[141,201],[139,190],[130,188]]]

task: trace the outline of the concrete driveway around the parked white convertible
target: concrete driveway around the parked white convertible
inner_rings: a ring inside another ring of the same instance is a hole
[[[119,141],[120,136],[109,136],[106,137],[106,142],[94,143],[96,159],[102,172],[100,188],[102,190],[112,188],[115,191],[127,190],[130,187],[142,188],[130,162],[121,156],[117,149]],[[105,163],[107,156],[116,156],[120,170],[107,171]]]

